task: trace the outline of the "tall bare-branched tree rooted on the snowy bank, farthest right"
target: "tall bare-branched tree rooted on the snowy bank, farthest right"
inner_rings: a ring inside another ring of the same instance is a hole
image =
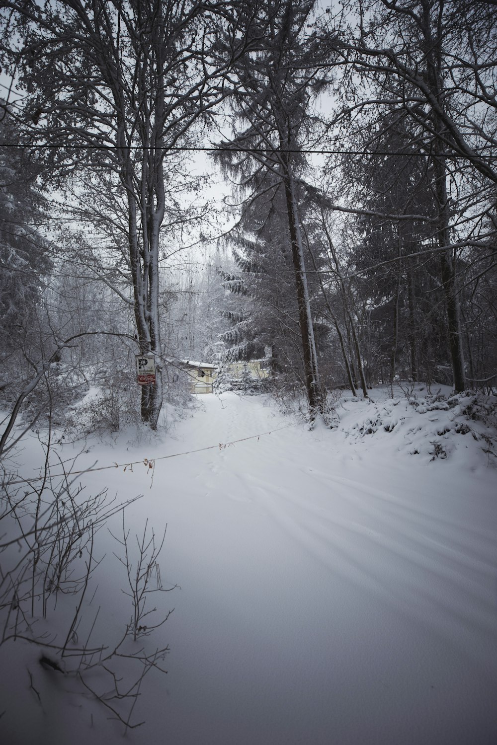
[[[328,43],[344,71],[342,123],[366,110],[397,112],[405,117],[417,153],[431,171],[434,250],[452,379],[461,391],[466,366],[460,253],[463,244],[473,244],[472,232],[478,232],[484,218],[495,219],[490,217],[497,182],[495,7],[462,0],[374,0],[365,17],[360,2],[342,5],[346,25],[340,37],[335,28],[330,28],[328,42],[323,34],[323,44]],[[369,147],[369,136],[365,141]],[[481,247],[485,250],[483,241]]]

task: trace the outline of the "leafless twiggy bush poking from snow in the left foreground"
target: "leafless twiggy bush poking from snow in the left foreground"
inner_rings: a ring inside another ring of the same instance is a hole
[[[41,708],[54,696],[54,689],[46,688],[45,670],[73,681],[69,688],[57,686],[60,704],[69,692],[80,694],[81,702],[91,694],[126,732],[139,725],[133,709],[144,677],[153,670],[165,672],[161,665],[168,647],[135,645],[169,615],[155,619],[156,608],[147,606],[151,592],[163,590],[158,557],[164,536],[156,543],[153,529],[145,524],[133,557],[124,511],[136,498],[119,504],[107,498],[107,489],[87,494],[75,484],[75,461],[66,469],[60,460],[53,473],[50,450],[48,443],[42,475],[30,482],[5,463],[1,469],[0,647],[16,668],[27,668]],[[124,592],[131,597],[133,612],[113,633],[100,627],[101,640],[95,642],[98,616],[107,610],[105,604],[92,607],[98,597],[96,573],[105,559],[97,534],[118,513],[124,547],[119,561],[127,572],[130,590]]]

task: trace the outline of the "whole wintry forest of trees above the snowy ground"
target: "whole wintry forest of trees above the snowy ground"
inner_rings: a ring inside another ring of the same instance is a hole
[[[181,359],[495,388],[493,2],[5,0],[0,50],[0,454],[91,385],[156,428]]]

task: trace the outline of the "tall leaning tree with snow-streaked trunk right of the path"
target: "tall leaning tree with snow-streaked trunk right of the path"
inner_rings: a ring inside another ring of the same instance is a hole
[[[299,204],[302,154],[313,126],[312,103],[322,89],[320,50],[307,25],[313,2],[268,0],[269,28],[234,68],[232,137],[217,157],[238,180],[247,204],[258,197],[284,205],[294,267],[306,393],[311,416],[323,408]],[[245,225],[246,228],[249,226]]]

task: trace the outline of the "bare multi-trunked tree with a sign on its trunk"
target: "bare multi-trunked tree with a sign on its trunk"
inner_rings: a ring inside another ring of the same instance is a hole
[[[142,386],[141,413],[155,428],[159,241],[174,194],[172,153],[193,144],[194,125],[206,126],[224,100],[222,74],[247,48],[246,9],[194,0],[7,0],[4,7],[5,57],[26,94],[23,144],[45,159],[52,185],[71,183],[77,195],[78,176],[90,171],[97,194],[104,188],[118,197],[109,220],[126,225],[137,351],[153,355],[157,370],[156,385]]]

